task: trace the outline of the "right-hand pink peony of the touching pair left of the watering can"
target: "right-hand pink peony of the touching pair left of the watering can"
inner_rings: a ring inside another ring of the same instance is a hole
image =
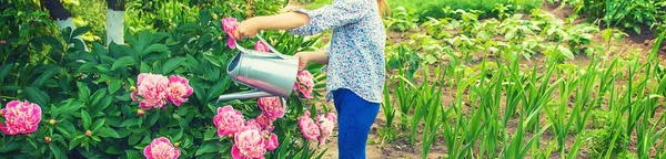
[[[192,87],[186,78],[171,75],[169,77],[169,88],[167,89],[168,99],[175,106],[188,102],[188,97],[192,95]]]

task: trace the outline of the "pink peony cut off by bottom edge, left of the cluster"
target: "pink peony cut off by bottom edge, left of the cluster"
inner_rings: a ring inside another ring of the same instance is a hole
[[[143,149],[143,156],[147,159],[178,159],[180,150],[165,137],[153,139],[150,145]]]

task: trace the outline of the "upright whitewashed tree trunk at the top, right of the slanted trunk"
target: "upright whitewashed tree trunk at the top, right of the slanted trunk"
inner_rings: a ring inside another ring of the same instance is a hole
[[[124,44],[125,0],[107,0],[107,45]]]

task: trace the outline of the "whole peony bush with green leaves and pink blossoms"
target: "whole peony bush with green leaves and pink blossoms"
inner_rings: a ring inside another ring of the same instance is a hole
[[[218,102],[250,89],[225,74],[230,41],[245,11],[241,0],[194,7],[199,14],[170,29],[129,32],[125,44],[72,42],[90,28],[29,44],[2,45],[0,153],[9,158],[316,158],[335,127],[334,115],[310,100],[321,66],[300,75],[290,98]],[[273,3],[256,2],[266,9]],[[279,6],[275,3],[274,6]],[[278,10],[274,10],[276,12]],[[225,18],[229,17],[229,18]],[[223,22],[229,21],[229,22]],[[262,34],[284,54],[312,51],[317,39]],[[73,45],[68,45],[73,43]],[[26,51],[26,47],[43,52]],[[323,117],[317,117],[323,116]],[[301,119],[310,121],[302,127]],[[310,134],[319,134],[312,138]]]

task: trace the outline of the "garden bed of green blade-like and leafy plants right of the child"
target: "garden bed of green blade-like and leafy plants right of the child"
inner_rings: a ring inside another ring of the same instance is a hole
[[[380,136],[450,158],[657,158],[664,153],[666,70],[658,52],[626,49],[620,29],[529,14],[412,20],[400,35]]]

